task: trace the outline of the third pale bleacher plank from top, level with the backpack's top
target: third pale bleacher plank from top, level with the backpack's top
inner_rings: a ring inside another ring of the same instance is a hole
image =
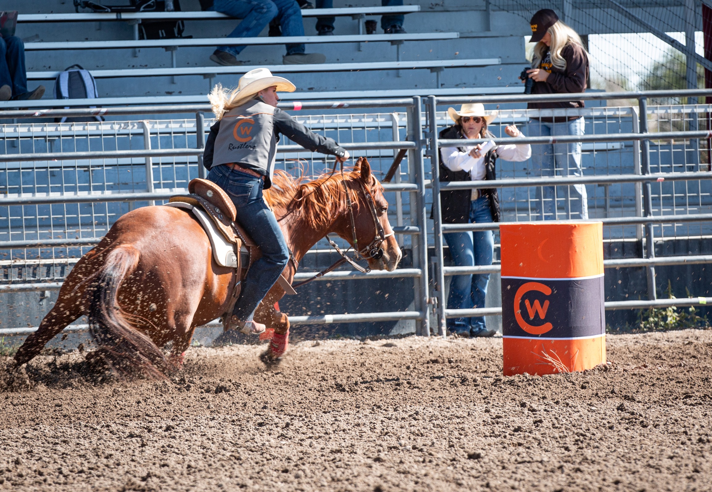
[[[463,68],[500,65],[500,58],[469,58],[463,60],[420,60],[371,63],[322,63],[317,65],[241,65],[236,67],[182,67],[182,68],[123,68],[115,70],[89,70],[95,78],[159,77],[164,75],[221,75],[247,73],[254,68],[268,68],[272,73],[345,72],[350,70],[408,70],[417,68]],[[28,80],[53,80],[56,70],[28,72]]]

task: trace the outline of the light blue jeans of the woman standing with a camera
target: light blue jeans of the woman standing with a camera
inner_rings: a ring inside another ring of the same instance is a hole
[[[529,137],[550,137],[553,135],[582,135],[585,124],[583,117],[568,122],[545,123],[532,119],[527,127]],[[535,176],[582,176],[581,142],[572,144],[532,145],[532,166]],[[588,203],[586,186],[582,184],[560,186],[559,193],[564,200],[565,219],[587,219]],[[543,191],[543,193],[542,193]],[[535,212],[543,220],[557,219],[557,191],[555,186],[536,188]],[[542,215],[543,211],[543,215]]]

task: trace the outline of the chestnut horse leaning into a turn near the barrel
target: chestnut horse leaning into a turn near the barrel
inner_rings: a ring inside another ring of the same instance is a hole
[[[379,242],[377,221],[385,239],[379,245],[382,255],[370,258],[369,267],[397,267],[401,251],[388,222],[388,203],[366,159],[359,159],[352,171],[314,181],[278,171],[264,196],[296,263],[329,232],[351,244],[353,237],[359,245]],[[290,282],[295,270],[289,262],[284,276]],[[38,331],[16,353],[16,364],[38,355],[51,338],[84,315],[99,346],[96,353],[111,368],[162,378],[182,361],[196,326],[226,311],[235,281],[234,269],[216,264],[210,241],[191,213],[161,205],[137,208],[122,215],[77,262]],[[268,356],[278,357],[286,348],[289,320],[274,306],[284,294],[275,284],[255,315],[283,340],[278,353],[270,353],[271,345]],[[172,351],[165,357],[161,347],[169,341]]]

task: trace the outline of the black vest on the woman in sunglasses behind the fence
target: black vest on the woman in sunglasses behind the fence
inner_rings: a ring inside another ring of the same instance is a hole
[[[461,139],[462,128],[459,125],[447,127],[439,133],[441,139]],[[459,147],[461,152],[465,149]],[[495,163],[497,149],[494,148],[485,155],[485,179],[495,180]],[[443,163],[438,151],[440,166],[440,181],[471,181],[467,171],[450,171]],[[470,221],[471,190],[453,190],[440,192],[440,210],[445,224],[466,224]],[[489,198],[492,220],[499,222],[499,197],[496,188],[480,188],[480,193]]]

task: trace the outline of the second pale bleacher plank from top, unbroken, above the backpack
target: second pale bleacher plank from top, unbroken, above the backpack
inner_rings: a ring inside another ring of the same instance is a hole
[[[310,44],[310,43],[374,43],[386,41],[433,41],[456,39],[460,33],[407,33],[407,34],[352,34],[347,36],[281,36],[258,38],[174,38],[141,39],[121,41],[46,41],[25,43],[26,51],[36,50],[99,50],[120,48],[167,48],[169,46],[240,46],[273,44]]]

